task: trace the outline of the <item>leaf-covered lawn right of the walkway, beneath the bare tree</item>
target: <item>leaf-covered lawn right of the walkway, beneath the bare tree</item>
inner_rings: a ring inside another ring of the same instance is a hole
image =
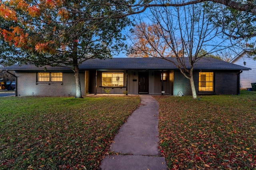
[[[239,96],[154,96],[160,151],[171,170],[255,170],[256,92]]]

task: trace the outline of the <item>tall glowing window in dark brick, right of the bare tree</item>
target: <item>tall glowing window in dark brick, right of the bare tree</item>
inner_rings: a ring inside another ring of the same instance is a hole
[[[198,91],[199,92],[213,92],[214,88],[214,73],[213,72],[199,72]]]

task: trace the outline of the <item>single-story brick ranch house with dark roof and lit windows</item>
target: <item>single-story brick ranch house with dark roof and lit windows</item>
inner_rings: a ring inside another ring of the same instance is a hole
[[[169,58],[176,61],[176,58]],[[188,64],[188,59],[186,58]],[[46,71],[44,71],[46,68]],[[89,59],[80,66],[82,95],[168,94],[182,91],[191,95],[190,82],[174,64],[159,58]],[[194,65],[197,94],[239,94],[239,76],[244,66],[213,58],[202,58]],[[74,72],[65,67],[36,67],[34,64],[4,68],[16,75],[16,92],[21,96],[74,96]]]

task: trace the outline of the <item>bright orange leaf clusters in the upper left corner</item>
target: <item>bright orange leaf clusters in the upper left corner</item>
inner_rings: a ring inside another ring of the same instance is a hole
[[[25,0],[9,0],[8,6],[2,3],[0,5],[0,17],[8,21],[19,22],[24,27],[29,27],[29,23],[24,21],[23,18],[17,18],[16,10],[21,10],[31,16],[32,18],[39,17],[41,15],[40,9],[53,8],[56,4],[61,5],[62,0],[46,0],[39,1],[38,4],[29,4]],[[50,7],[49,7],[50,6]],[[30,27],[32,31],[33,28]],[[14,45],[17,48],[33,49],[39,53],[56,53],[53,47],[50,47],[54,41],[38,42],[33,37],[30,37],[28,33],[21,27],[11,26],[8,29],[0,29],[0,36],[4,41],[10,45]]]

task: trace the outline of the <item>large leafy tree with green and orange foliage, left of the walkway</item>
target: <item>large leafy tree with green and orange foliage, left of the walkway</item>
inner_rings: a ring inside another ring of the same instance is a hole
[[[119,1],[122,2],[122,1]],[[112,0],[9,0],[0,2],[0,41],[5,59],[74,71],[82,98],[79,65],[110,58],[125,47],[122,29],[130,21],[126,5]],[[129,4],[126,1],[126,4]],[[3,47],[4,47],[3,46]]]

